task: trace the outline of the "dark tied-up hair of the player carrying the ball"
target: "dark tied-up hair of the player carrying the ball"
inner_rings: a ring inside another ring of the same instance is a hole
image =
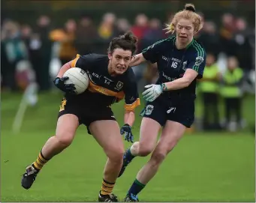
[[[110,42],[110,46],[108,47],[108,52],[113,53],[114,49],[124,49],[124,50],[130,50],[132,55],[134,55],[136,49],[137,49],[137,37],[131,32],[128,31],[123,35],[120,35],[119,37],[113,38]]]

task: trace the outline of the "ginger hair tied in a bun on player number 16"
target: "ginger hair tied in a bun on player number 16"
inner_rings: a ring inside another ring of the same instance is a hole
[[[185,8],[174,15],[172,22],[170,22],[169,25],[166,24],[166,28],[164,29],[167,30],[166,33],[173,34],[179,19],[191,19],[194,25],[195,33],[203,28],[202,18],[195,12],[194,4],[185,4]]]

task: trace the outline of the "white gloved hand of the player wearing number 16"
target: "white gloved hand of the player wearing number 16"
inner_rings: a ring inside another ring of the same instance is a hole
[[[163,93],[165,85],[146,85],[142,95],[146,101],[152,102]]]

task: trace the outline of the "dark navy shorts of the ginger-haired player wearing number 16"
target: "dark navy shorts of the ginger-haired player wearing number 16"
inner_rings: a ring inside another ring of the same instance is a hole
[[[161,103],[158,100],[146,103],[140,116],[152,118],[161,126],[164,126],[167,120],[176,121],[185,127],[190,128],[194,123],[194,100],[182,101],[175,106]]]

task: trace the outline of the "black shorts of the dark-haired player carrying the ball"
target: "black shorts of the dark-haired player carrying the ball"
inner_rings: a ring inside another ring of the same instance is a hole
[[[89,125],[92,124],[93,121],[116,121],[116,118],[109,106],[81,105],[75,101],[66,100],[63,98],[59,109],[58,118],[65,114],[76,115],[79,119],[79,124],[84,124],[87,127],[89,134],[92,134],[89,131]]]

